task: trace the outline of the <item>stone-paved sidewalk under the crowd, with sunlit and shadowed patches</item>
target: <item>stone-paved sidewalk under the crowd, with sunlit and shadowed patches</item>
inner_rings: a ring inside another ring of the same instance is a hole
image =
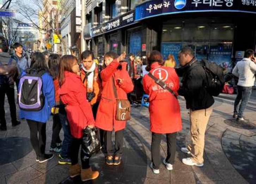
[[[132,119],[127,123],[124,135],[122,164],[120,166],[107,166],[104,163],[104,155],[98,154],[91,159],[91,165],[93,169],[100,171],[100,177],[93,182],[85,183],[255,183],[256,130],[253,125],[256,124],[256,116],[254,115],[256,103],[252,102],[246,109],[245,115],[252,129],[245,129],[243,126],[234,126],[233,123],[226,122],[227,120],[233,121],[233,104],[226,99],[216,98],[205,138],[205,166],[191,167],[181,163],[181,159],[187,155],[179,151],[179,148],[189,141],[190,124],[188,110],[185,109],[185,101],[182,98],[179,101],[183,130],[178,133],[178,146],[172,171],[167,171],[164,165],[161,165],[159,175],[152,173],[149,167],[151,163],[151,132],[149,131],[148,109],[134,107]],[[7,131],[0,131],[0,143],[7,140],[15,142],[18,138],[19,141],[16,141],[17,144],[5,145],[5,156],[2,151],[0,152],[0,184],[80,183],[79,178],[69,179],[68,166],[58,165],[56,156],[46,163],[37,163],[35,152],[32,151],[29,143],[30,135],[27,123],[22,121],[18,127],[11,127],[8,103],[6,103],[5,109],[8,122]],[[52,121],[50,120],[47,124],[47,152],[51,141],[51,126]],[[61,138],[63,138],[62,131]],[[166,149],[166,140],[163,136],[161,142],[162,159],[166,157]],[[6,156],[6,152],[9,157]],[[243,159],[240,159],[241,157]],[[248,169],[249,171],[246,172]]]

